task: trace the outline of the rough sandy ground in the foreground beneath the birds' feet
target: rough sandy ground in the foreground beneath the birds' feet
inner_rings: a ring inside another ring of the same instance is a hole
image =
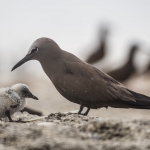
[[[38,116],[16,113],[14,120]],[[28,123],[0,122],[1,150],[148,150],[150,120],[51,113]],[[2,138],[3,137],[3,138]]]

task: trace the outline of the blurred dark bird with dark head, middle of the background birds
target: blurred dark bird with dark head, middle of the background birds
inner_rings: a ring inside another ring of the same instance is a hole
[[[133,64],[133,58],[138,49],[138,45],[133,45],[130,49],[128,61],[126,64],[119,69],[108,72],[107,74],[119,82],[127,80],[132,74],[136,72],[135,66]]]

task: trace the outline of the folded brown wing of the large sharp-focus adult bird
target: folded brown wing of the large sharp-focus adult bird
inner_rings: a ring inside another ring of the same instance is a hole
[[[85,101],[135,101],[122,84],[82,61],[64,62],[57,85],[61,93]]]

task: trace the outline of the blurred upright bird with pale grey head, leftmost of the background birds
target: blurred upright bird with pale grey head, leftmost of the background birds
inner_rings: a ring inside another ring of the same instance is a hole
[[[107,35],[108,29],[101,28],[100,29],[100,36],[99,36],[99,44],[96,50],[92,51],[93,53],[89,56],[86,60],[87,63],[93,64],[99,60],[101,60],[106,54],[106,47],[107,47]]]

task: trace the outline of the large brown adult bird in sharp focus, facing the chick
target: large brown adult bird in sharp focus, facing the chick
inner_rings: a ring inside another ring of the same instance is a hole
[[[29,60],[38,60],[58,92],[71,102],[90,109],[101,107],[150,109],[150,97],[127,89],[121,83],[62,50],[49,38],[39,38],[12,70]]]

